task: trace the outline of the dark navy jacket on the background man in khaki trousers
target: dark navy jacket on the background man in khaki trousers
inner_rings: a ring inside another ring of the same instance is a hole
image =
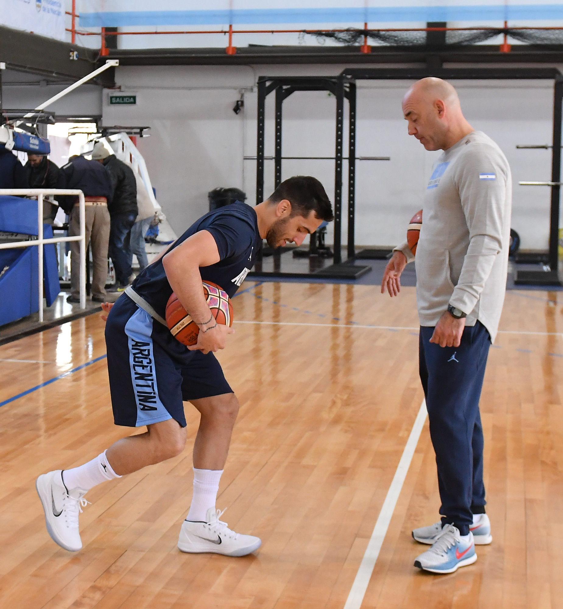
[[[108,205],[112,203],[112,180],[105,167],[97,161],[88,161],[83,157],[77,157],[60,168],[57,188],[77,188],[85,197],[105,197]],[[70,213],[77,200],[77,197],[57,197],[58,204],[66,213]]]

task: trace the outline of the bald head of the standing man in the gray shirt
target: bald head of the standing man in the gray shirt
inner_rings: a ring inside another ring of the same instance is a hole
[[[459,104],[458,92],[439,78],[423,78],[403,97],[409,135],[427,150],[447,150],[473,131]]]

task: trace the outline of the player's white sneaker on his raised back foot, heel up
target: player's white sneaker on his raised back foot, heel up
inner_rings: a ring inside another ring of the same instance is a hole
[[[82,549],[78,514],[88,503],[83,499],[87,491],[83,488],[69,491],[63,482],[62,470],[41,474],[35,482],[35,488],[43,504],[45,524],[51,539],[71,552]]]

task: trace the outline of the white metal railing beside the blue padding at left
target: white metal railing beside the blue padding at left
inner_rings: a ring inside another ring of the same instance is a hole
[[[80,234],[76,236],[53,237],[43,239],[43,196],[44,195],[75,195],[79,201]],[[39,276],[39,321],[43,322],[43,245],[62,243],[66,241],[80,242],[80,309],[86,308],[86,221],[84,193],[81,190],[65,190],[59,188],[0,188],[0,195],[15,195],[37,197],[37,239],[34,241],[13,241],[0,243],[0,250],[11,250],[15,247],[38,247],[38,276]]]

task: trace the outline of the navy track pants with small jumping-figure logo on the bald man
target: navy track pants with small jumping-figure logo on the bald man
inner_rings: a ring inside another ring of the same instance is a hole
[[[431,343],[434,328],[421,327],[420,381],[436,452],[442,524],[469,533],[473,514],[484,513],[483,427],[479,399],[490,336],[481,322],[465,328],[459,347]]]

